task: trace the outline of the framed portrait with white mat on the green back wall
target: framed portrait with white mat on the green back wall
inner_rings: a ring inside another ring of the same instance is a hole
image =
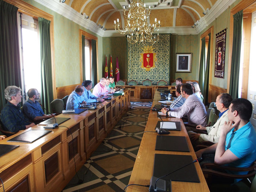
[[[192,53],[176,53],[176,72],[191,73]]]

